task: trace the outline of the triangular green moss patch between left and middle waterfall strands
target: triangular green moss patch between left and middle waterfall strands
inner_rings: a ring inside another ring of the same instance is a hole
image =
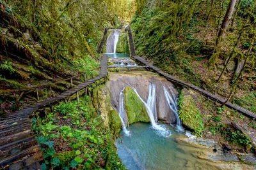
[[[125,110],[127,112],[127,117],[129,119],[129,124],[136,122],[150,122],[147,110],[136,95],[136,93],[131,89],[131,87],[126,87],[124,90],[125,95]]]

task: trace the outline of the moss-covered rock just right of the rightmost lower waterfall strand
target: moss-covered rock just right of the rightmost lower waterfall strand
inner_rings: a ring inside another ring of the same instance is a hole
[[[204,131],[204,122],[195,101],[189,94],[185,95],[184,91],[180,93],[179,100],[179,117],[182,123],[195,132],[196,136],[202,136]]]

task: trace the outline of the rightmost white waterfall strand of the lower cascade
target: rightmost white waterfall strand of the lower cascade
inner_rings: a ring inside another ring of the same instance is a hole
[[[164,96],[166,97],[166,100],[169,104],[170,109],[172,110],[172,112],[174,113],[175,117],[176,117],[176,122],[177,122],[177,131],[184,131],[183,127],[182,127],[182,122],[179,118],[179,113],[178,113],[178,106],[177,106],[177,99],[176,97],[173,95],[173,91],[171,88],[171,94],[170,92],[165,88],[164,88]]]

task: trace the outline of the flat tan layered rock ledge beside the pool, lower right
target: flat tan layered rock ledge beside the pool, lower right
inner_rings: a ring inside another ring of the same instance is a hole
[[[224,153],[217,142],[211,139],[196,138],[189,139],[179,136],[176,138],[179,143],[178,148],[183,150],[185,154],[191,154],[192,157],[188,161],[188,169],[255,169],[256,159],[254,155],[236,153]],[[217,152],[212,149],[214,146]],[[193,160],[196,159],[196,164]],[[241,162],[240,160],[243,160]],[[189,163],[190,162],[190,163]],[[248,165],[249,164],[249,165]],[[207,165],[207,166],[205,166]]]

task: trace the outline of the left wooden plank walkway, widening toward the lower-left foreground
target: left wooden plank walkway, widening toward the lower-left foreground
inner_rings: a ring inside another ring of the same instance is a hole
[[[41,169],[38,162],[44,157],[33,134],[29,116],[36,110],[67,99],[97,80],[105,78],[108,74],[107,68],[108,56],[103,55],[99,76],[86,80],[56,97],[27,106],[12,115],[0,118],[0,169]]]

